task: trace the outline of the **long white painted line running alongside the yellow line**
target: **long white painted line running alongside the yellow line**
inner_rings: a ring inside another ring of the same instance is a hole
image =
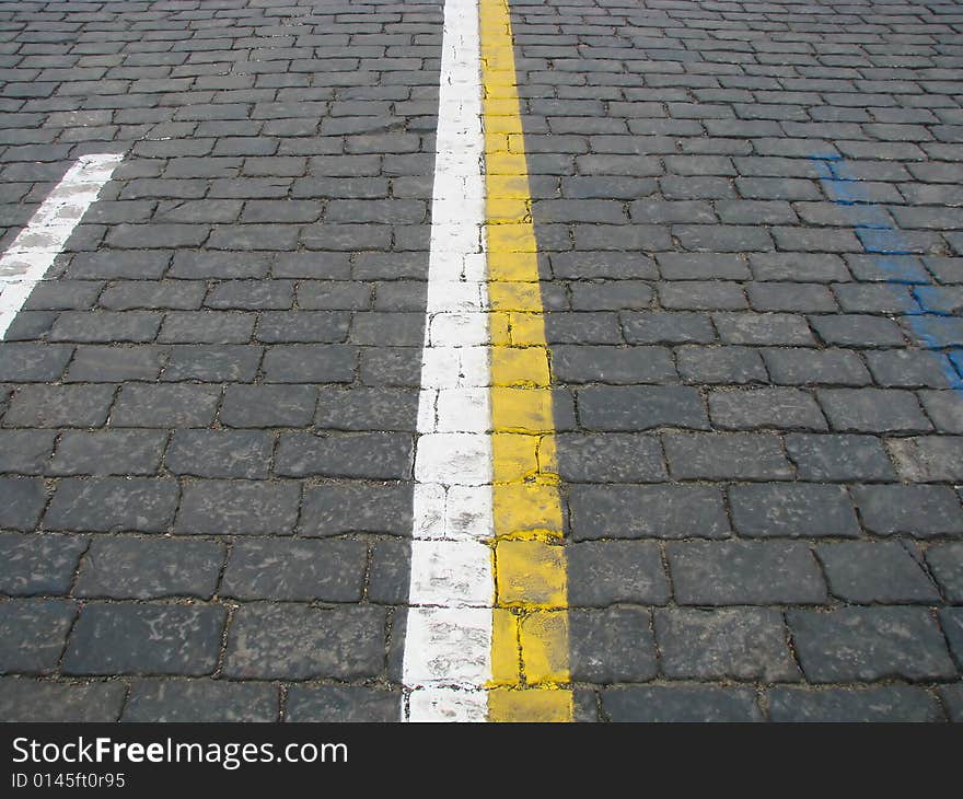
[[[402,711],[484,721],[491,412],[477,0],[445,0]]]

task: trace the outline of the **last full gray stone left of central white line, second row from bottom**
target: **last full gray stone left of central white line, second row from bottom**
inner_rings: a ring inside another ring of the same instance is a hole
[[[358,680],[384,670],[380,607],[245,604],[228,632],[223,672],[237,679]]]

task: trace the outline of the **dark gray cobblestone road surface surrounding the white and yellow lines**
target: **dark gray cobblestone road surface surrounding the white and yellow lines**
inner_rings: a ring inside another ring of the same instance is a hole
[[[960,720],[963,7],[510,7],[576,718]],[[3,719],[398,717],[441,21],[0,2]]]

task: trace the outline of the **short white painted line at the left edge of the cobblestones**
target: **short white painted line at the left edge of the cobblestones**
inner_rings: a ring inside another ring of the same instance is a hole
[[[81,155],[0,257],[0,339],[123,159]]]

